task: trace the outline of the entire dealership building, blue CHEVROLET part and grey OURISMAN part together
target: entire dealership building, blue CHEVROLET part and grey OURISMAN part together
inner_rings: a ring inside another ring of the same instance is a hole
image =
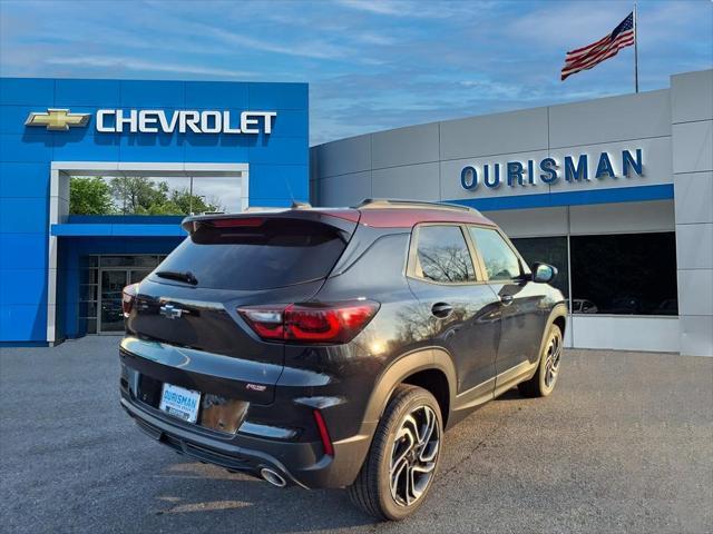
[[[180,216],[70,212],[95,176],[231,211],[471,206],[558,268],[569,346],[713,356],[713,70],[312,149],[303,83],[0,79],[0,347],[119,332],[120,288],[183,238]]]

